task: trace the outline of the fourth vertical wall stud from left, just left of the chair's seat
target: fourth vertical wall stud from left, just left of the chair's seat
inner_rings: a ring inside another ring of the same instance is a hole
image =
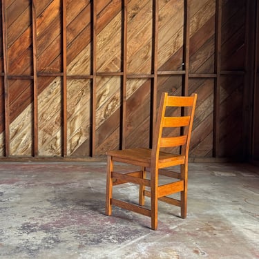
[[[97,48],[97,31],[96,31],[96,23],[97,23],[97,10],[96,10],[96,1],[93,0],[93,88],[92,88],[92,141],[91,141],[91,155],[95,156],[95,144],[96,144],[96,48]]]

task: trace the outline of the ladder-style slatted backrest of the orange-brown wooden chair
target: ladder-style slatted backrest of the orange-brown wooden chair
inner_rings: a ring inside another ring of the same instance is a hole
[[[162,93],[160,107],[155,124],[155,132],[152,146],[152,157],[158,159],[161,148],[180,147],[180,153],[186,156],[188,160],[189,145],[191,140],[191,130],[193,126],[193,117],[197,94],[189,97],[169,96],[168,93]],[[169,114],[166,110],[178,110],[178,115],[173,111]],[[166,109],[167,108],[167,109]],[[179,112],[180,111],[180,112]],[[177,130],[175,131],[175,129]],[[164,133],[167,129],[167,133]],[[174,131],[171,136],[169,131]]]

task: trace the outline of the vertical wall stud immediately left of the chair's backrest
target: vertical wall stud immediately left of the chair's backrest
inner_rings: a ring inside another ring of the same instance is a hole
[[[151,93],[152,111],[151,111],[151,132],[149,147],[153,146],[154,128],[157,111],[157,62],[158,62],[158,21],[159,21],[159,6],[158,0],[153,0],[153,89]]]

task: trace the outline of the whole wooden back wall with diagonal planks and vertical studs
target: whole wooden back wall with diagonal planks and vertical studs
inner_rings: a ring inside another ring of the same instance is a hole
[[[253,2],[1,1],[0,159],[151,146],[168,91],[198,93],[191,157],[244,160]]]

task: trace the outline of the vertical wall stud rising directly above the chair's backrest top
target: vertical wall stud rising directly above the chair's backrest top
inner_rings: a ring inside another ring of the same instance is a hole
[[[182,95],[189,95],[189,57],[190,57],[190,12],[189,12],[189,1],[184,0],[184,48],[182,66],[184,75],[182,77]]]

